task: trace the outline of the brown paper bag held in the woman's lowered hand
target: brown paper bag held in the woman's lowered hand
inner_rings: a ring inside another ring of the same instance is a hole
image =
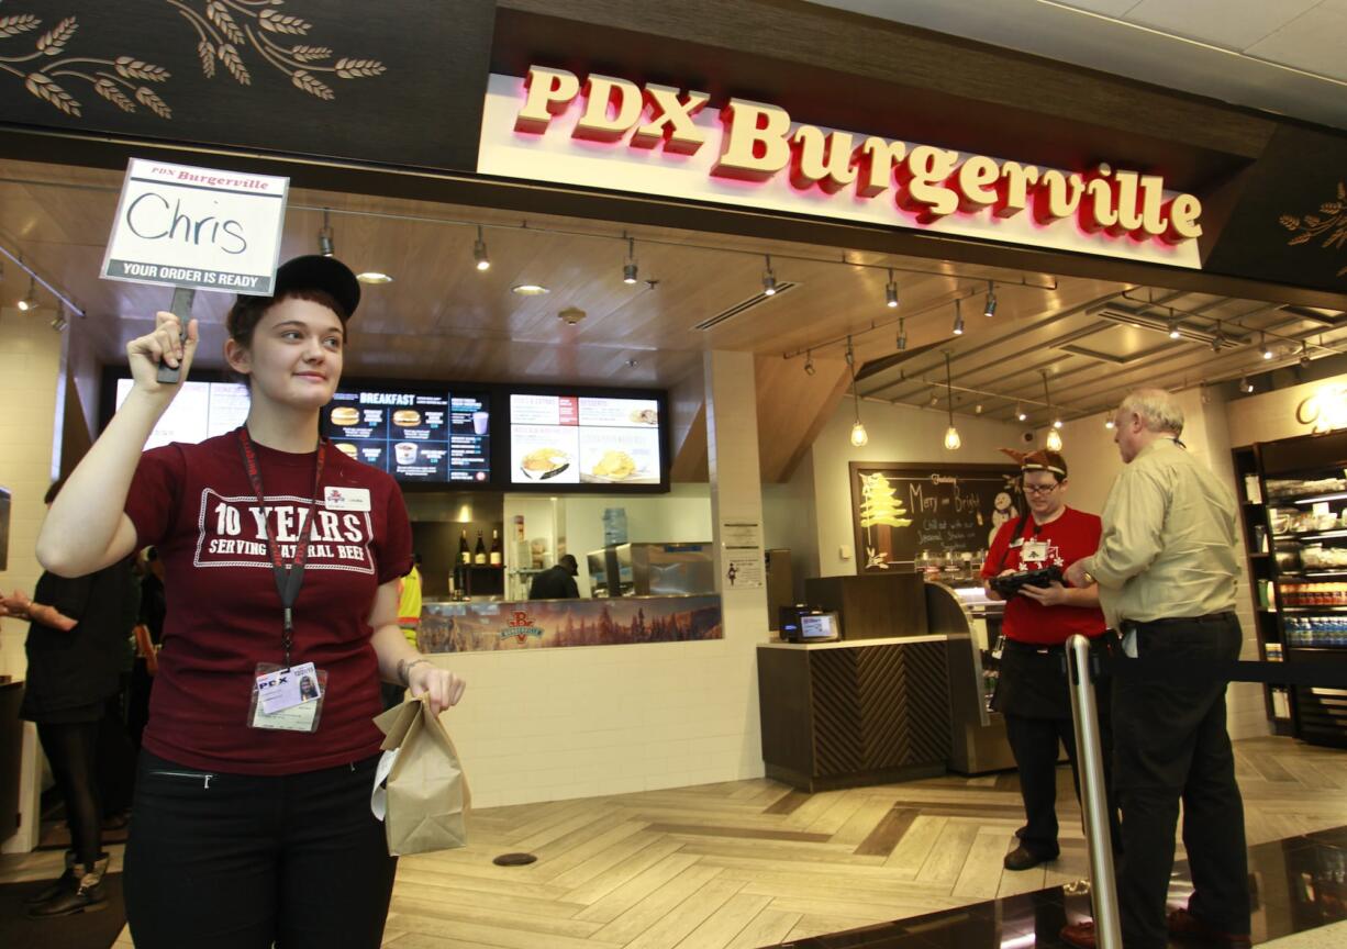
[[[370,805],[379,817],[383,798],[388,852],[400,856],[463,847],[471,804],[467,778],[454,742],[430,704],[408,699],[374,719],[374,724],[385,735],[379,773],[387,771],[388,777],[383,786],[376,779]]]

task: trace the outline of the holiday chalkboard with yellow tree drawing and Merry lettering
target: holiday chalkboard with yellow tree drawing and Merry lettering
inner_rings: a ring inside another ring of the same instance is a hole
[[[967,553],[974,565],[1006,521],[1025,510],[1012,464],[851,462],[861,573],[911,569],[923,555]]]

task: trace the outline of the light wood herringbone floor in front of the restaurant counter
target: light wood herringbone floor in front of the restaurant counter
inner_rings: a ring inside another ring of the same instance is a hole
[[[1235,748],[1250,844],[1347,824],[1347,752]],[[1086,872],[1070,773],[1059,778],[1061,857],[1020,874],[1001,867],[1021,820],[1013,774],[822,794],[737,781],[480,810],[467,848],[400,862],[385,945],[752,949],[1037,890]],[[537,862],[492,864],[508,851]],[[40,875],[51,857],[8,857],[0,879]]]

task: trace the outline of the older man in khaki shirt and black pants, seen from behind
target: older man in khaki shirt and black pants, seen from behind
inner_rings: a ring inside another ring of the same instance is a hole
[[[1125,949],[1164,949],[1175,936],[1249,944],[1245,814],[1226,731],[1226,685],[1204,674],[1239,658],[1237,529],[1230,491],[1193,459],[1169,393],[1140,389],[1114,419],[1127,466],[1103,510],[1094,556],[1072,564],[1072,586],[1099,584],[1123,647],[1188,674],[1119,677],[1113,688],[1114,790],[1126,857],[1118,875]],[[1193,894],[1168,911],[1179,801]],[[1063,938],[1092,949],[1094,923]]]

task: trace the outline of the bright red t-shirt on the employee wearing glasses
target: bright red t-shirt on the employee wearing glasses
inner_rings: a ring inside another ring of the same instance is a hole
[[[1103,525],[1094,514],[1064,507],[1061,516],[1051,524],[1037,525],[1030,514],[1020,528],[1018,538],[1014,528],[1020,518],[1001,525],[987,560],[982,564],[982,579],[995,576],[1004,569],[1037,569],[1056,564],[1065,569],[1082,557],[1099,549],[1099,534]],[[1012,541],[1021,542],[1012,547]],[[1005,565],[1001,557],[1005,555]],[[1032,555],[1033,559],[1029,559]],[[1056,646],[1074,634],[1087,637],[1100,635],[1105,630],[1103,612],[1094,606],[1044,606],[1028,596],[1016,594],[1006,600],[1002,631],[1008,639],[1032,642],[1034,645]]]

